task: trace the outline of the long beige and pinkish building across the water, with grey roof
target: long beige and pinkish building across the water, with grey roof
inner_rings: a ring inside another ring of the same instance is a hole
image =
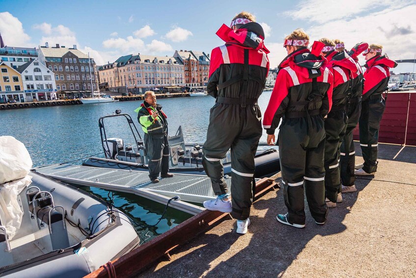
[[[101,86],[117,93],[168,92],[184,85],[183,63],[168,56],[122,56],[99,67],[99,75]]]

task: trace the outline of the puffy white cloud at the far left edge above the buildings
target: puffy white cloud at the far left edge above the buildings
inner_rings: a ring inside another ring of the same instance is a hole
[[[23,25],[17,17],[9,12],[0,12],[0,33],[5,45],[33,47],[30,36],[25,33]]]

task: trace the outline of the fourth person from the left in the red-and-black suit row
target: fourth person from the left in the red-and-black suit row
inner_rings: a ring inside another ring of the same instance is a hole
[[[335,40],[335,49],[339,51],[338,47],[342,47],[344,51],[343,43],[341,41]],[[339,167],[341,171],[341,192],[355,192],[357,188],[355,187],[355,175],[354,175],[354,165],[355,165],[355,147],[353,141],[353,130],[358,124],[361,114],[361,95],[364,79],[362,76],[361,65],[358,63],[358,55],[360,55],[364,50],[368,48],[368,43],[361,42],[356,44],[349,52],[348,55],[356,62],[357,72],[354,70],[351,71],[351,80],[350,88],[351,93],[347,95],[347,116],[348,123],[346,126],[346,131],[344,139],[342,140],[340,148],[340,160]]]

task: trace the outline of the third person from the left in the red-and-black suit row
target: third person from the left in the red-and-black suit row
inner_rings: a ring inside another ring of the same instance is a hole
[[[330,208],[336,207],[336,203],[342,202],[341,177],[339,171],[339,148],[345,134],[348,121],[345,111],[347,94],[350,92],[351,71],[357,72],[357,64],[343,52],[335,51],[335,44],[328,38],[319,41],[325,46],[322,55],[328,60],[328,65],[333,73],[333,107],[325,119],[325,201]]]

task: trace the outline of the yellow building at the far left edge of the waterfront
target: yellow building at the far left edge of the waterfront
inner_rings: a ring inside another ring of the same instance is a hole
[[[24,101],[22,75],[4,62],[0,62],[0,97]]]

